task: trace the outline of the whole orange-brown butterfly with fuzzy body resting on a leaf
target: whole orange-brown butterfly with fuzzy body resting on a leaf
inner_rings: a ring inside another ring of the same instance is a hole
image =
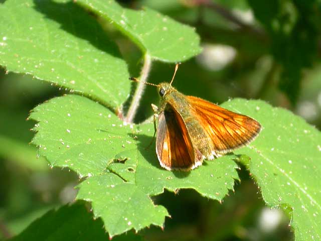
[[[190,171],[204,160],[230,153],[258,136],[261,125],[255,119],[176,90],[172,82],[177,69],[178,64],[170,83],[146,83],[156,86],[161,96],[159,107],[152,104],[152,108],[156,154],[162,167]]]

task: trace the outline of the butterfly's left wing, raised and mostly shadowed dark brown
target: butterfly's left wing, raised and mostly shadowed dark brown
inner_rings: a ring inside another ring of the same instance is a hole
[[[156,153],[167,170],[190,170],[202,164],[202,155],[195,153],[182,116],[170,104],[159,114]]]

